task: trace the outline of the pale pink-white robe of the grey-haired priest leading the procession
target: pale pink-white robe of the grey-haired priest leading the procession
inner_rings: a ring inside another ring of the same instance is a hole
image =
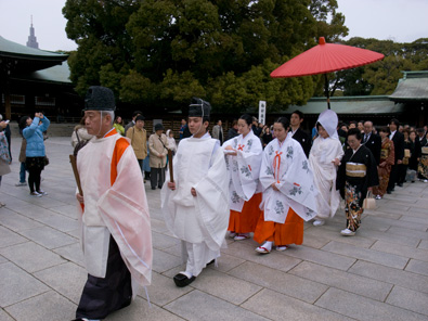
[[[130,145],[120,159],[114,155],[115,130],[91,140],[77,156],[77,168],[85,197],[81,218],[81,245],[88,273],[104,278],[109,236],[115,239],[132,280],[148,285],[152,279],[152,231],[141,169]],[[112,162],[117,176],[112,184]],[[135,293],[137,294],[137,293]]]

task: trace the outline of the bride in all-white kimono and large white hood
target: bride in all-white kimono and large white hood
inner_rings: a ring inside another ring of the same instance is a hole
[[[336,191],[337,167],[343,156],[343,150],[337,134],[338,118],[332,110],[320,114],[316,121],[319,137],[313,141],[309,164],[314,175],[317,213],[313,224],[323,226],[325,219],[335,216],[340,204],[340,194]]]

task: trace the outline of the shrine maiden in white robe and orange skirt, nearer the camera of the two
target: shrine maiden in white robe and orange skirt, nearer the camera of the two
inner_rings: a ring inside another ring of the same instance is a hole
[[[276,251],[288,244],[303,243],[303,220],[314,218],[316,188],[312,169],[300,143],[288,134],[289,121],[280,117],[273,125],[275,139],[264,149],[260,183],[263,202],[254,239],[264,242],[256,252],[267,254],[275,243]]]

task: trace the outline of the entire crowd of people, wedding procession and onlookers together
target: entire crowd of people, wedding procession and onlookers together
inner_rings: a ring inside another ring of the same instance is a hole
[[[401,126],[398,119],[380,127],[371,120],[348,125],[326,110],[310,134],[299,111],[272,126],[244,114],[226,133],[218,119],[210,133],[211,106],[194,98],[176,141],[161,124],[154,124],[148,136],[142,112],[125,125],[115,110],[109,89],[91,87],[85,116],[72,136],[88,270],[76,320],[103,319],[131,304],[139,285],[151,283],[146,180],[152,190],[160,189],[166,226],[182,243],[185,269],[173,277],[179,287],[218,264],[228,233],[238,242],[252,236],[259,243],[257,255],[283,252],[302,244],[304,221],[328,223],[342,198],[340,233],[352,236],[369,192],[380,200],[405,182],[428,182],[427,129]],[[31,196],[47,194],[40,175],[49,164],[43,143],[49,124],[42,113],[20,121],[18,185],[26,184],[28,171]],[[0,121],[0,181],[10,172],[5,128]]]

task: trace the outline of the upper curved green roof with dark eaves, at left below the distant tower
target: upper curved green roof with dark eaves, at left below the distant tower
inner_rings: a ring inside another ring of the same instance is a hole
[[[61,65],[68,54],[28,48],[0,36],[0,57],[14,72],[30,72]]]

